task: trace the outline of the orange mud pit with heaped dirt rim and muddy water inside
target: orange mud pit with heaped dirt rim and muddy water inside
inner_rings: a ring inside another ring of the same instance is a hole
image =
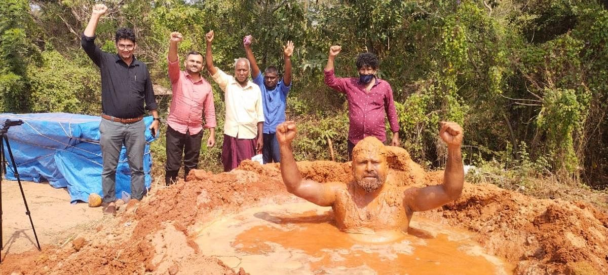
[[[404,185],[441,182],[443,173],[425,173],[402,150],[392,151],[389,161],[392,176]],[[304,177],[320,182],[351,178],[348,164],[316,161],[298,165]],[[403,265],[407,261],[429,262],[431,267],[443,266],[440,272],[444,274],[466,274],[457,266],[450,267],[451,259],[478,260],[469,268],[474,265],[491,270],[471,269],[469,274],[605,274],[608,270],[608,216],[584,203],[537,200],[491,185],[465,183],[457,201],[415,214],[410,235],[404,239],[390,245],[365,246],[339,239],[342,233],[332,232],[331,215],[324,207],[313,207],[286,193],[277,165],[244,162],[238,170],[218,175],[195,170],[189,179],[154,190],[139,204],[123,206],[126,211],[122,215],[79,235],[71,244],[46,246],[43,252],[9,254],[0,265],[0,273],[424,273],[407,270],[407,266],[381,270],[371,262],[365,262],[364,267],[351,265],[350,254],[364,255],[365,259],[392,258]],[[231,230],[235,234],[224,236],[223,241],[221,234]],[[296,230],[302,240],[309,240],[308,246],[281,238],[283,232],[295,234]],[[322,249],[328,252],[326,256],[317,254],[321,250],[315,246],[319,245],[319,231],[336,234],[329,238],[335,242]],[[289,249],[293,258],[282,259],[276,254]],[[413,254],[407,253],[412,250]],[[254,265],[252,259],[259,260]],[[273,263],[277,271],[260,269],[263,261]]]

